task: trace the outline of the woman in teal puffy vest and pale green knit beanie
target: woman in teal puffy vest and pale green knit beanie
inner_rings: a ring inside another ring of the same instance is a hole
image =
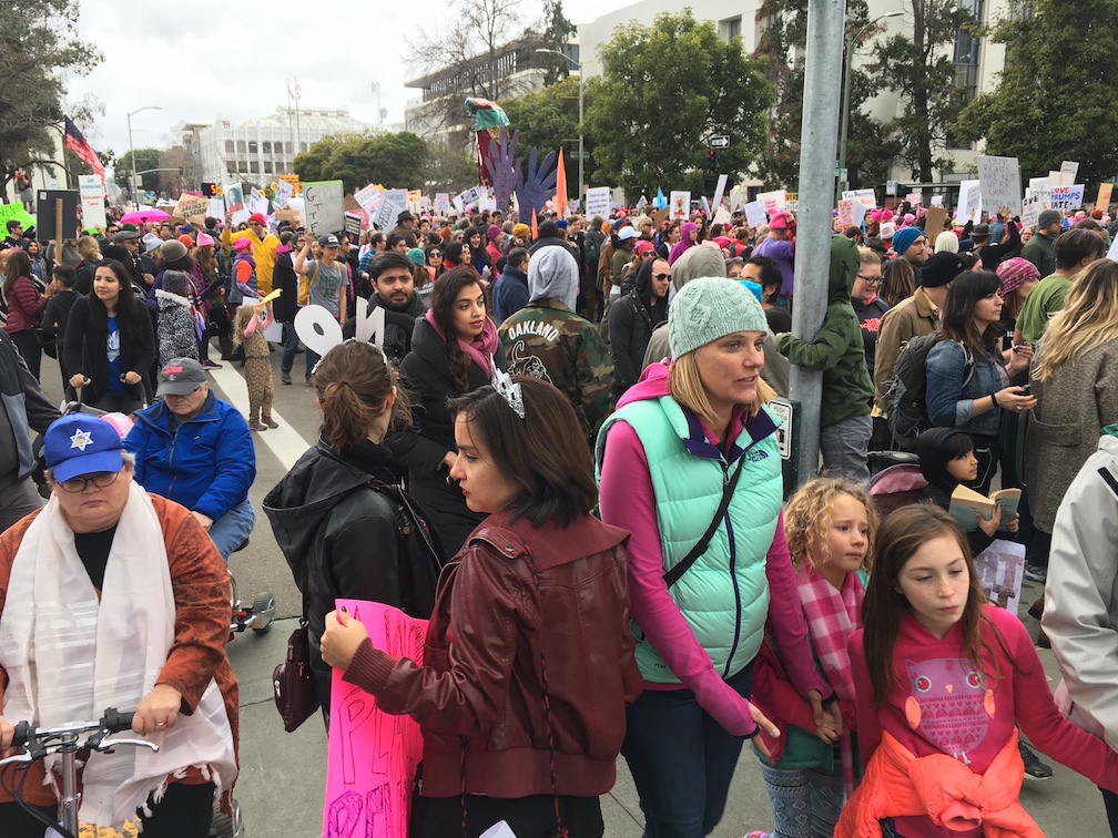
[[[746,699],[766,620],[818,720],[841,715],[812,659],[784,537],[765,408],[774,393],[760,378],[765,313],[723,277],[692,280],[672,306],[674,361],[650,366],[620,399],[597,466],[603,520],[633,534],[631,629],[645,691],[622,753],[645,836],[699,838],[722,817],[745,740],[775,730]]]

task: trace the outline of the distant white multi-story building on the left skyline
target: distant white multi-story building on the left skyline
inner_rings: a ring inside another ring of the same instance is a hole
[[[222,182],[244,177],[263,182],[293,172],[295,155],[325,136],[399,130],[400,125],[360,122],[343,107],[301,107],[297,120],[294,108],[277,107],[274,114],[240,125],[228,120],[205,126],[188,125],[183,128],[183,142],[197,150],[203,179]]]

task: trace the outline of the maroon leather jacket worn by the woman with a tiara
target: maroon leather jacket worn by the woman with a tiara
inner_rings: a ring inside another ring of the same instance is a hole
[[[510,517],[486,518],[443,571],[423,667],[366,640],[344,679],[419,722],[424,797],[456,797],[463,784],[495,798],[550,794],[542,648],[557,791],[605,794],[625,707],[644,688],[628,628],[628,533],[593,517],[566,530]]]

